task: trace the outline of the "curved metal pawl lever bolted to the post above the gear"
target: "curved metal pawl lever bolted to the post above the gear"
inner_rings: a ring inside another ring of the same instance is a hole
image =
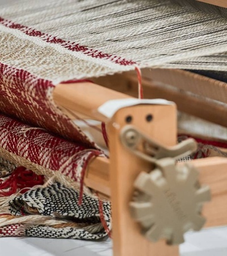
[[[187,139],[173,147],[165,147],[141,133],[132,125],[127,125],[121,130],[120,138],[129,151],[151,163],[155,163],[157,159],[162,158],[177,160],[192,154],[197,148],[194,139]]]

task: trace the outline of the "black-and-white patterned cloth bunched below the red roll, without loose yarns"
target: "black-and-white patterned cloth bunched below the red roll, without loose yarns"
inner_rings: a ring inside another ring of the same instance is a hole
[[[47,225],[27,225],[24,233],[26,236],[46,238],[78,238],[83,240],[98,240],[106,237],[107,232],[100,220],[99,199],[83,195],[82,204],[78,204],[79,192],[66,188],[60,183],[54,183],[47,188],[32,189],[15,197],[9,203],[9,210],[15,216],[31,214],[37,210],[44,216],[53,219],[68,221],[69,224],[77,223],[64,228]],[[109,201],[102,202],[104,221],[111,230],[111,205]]]

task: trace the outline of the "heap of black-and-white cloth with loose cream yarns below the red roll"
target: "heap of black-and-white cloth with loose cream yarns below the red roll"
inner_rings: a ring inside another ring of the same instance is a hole
[[[33,188],[14,195],[7,204],[9,213],[1,214],[0,237],[28,236],[98,240],[106,237],[99,209],[99,199],[79,193],[60,183]],[[103,218],[111,229],[110,202],[102,202]]]

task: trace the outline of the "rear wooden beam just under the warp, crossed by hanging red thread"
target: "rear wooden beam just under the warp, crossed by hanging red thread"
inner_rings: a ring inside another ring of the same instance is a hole
[[[227,83],[181,69],[142,69],[142,78],[153,85],[170,85],[197,96],[227,103]],[[138,97],[138,81],[135,72],[125,72],[93,79],[96,83]],[[133,81],[133,88],[131,81]],[[136,82],[134,82],[136,81]],[[144,82],[143,82],[144,84]],[[134,86],[136,85],[136,87]],[[145,93],[145,98],[149,94]],[[198,97],[199,98],[199,97]]]

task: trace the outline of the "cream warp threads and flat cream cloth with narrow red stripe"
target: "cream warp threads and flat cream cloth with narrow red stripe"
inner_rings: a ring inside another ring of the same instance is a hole
[[[2,63],[53,84],[135,64],[226,70],[226,11],[195,0],[19,0],[0,16]]]

